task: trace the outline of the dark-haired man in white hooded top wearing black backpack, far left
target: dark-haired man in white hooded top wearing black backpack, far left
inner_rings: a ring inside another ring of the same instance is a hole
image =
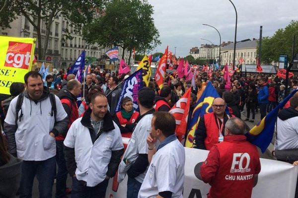
[[[11,100],[4,120],[8,152],[23,160],[20,197],[31,198],[36,175],[39,197],[52,198],[56,171],[55,137],[66,131],[68,116],[58,97],[43,87],[42,76],[24,76],[26,91]]]

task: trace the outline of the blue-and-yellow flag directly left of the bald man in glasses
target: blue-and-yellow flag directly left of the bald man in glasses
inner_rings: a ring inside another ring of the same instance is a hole
[[[192,148],[194,144],[194,136],[197,130],[197,126],[202,117],[206,113],[213,112],[212,102],[214,99],[220,98],[220,95],[217,93],[211,82],[208,82],[202,96],[195,104],[195,108],[189,123],[187,124],[187,138],[185,140],[185,147]]]

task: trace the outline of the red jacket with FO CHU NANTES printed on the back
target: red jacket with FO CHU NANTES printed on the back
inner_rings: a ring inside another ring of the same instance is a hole
[[[261,171],[259,157],[244,135],[225,136],[201,166],[203,181],[211,185],[208,198],[251,198],[254,175]]]

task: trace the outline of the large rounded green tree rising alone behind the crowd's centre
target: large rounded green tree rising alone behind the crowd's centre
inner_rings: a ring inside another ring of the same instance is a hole
[[[145,54],[160,44],[151,16],[153,6],[146,0],[111,0],[104,13],[85,26],[83,38],[88,43],[121,47],[122,58],[125,50],[130,51],[130,56],[134,48]]]

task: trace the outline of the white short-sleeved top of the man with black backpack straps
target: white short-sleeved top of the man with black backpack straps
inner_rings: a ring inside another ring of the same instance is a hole
[[[15,125],[15,106],[18,97],[11,100],[5,122]],[[60,99],[55,96],[57,115],[56,121],[66,118]],[[56,141],[50,136],[53,130],[55,117],[51,116],[52,105],[50,97],[35,103],[24,97],[21,121],[17,121],[17,130],[15,132],[15,143],[17,156],[23,160],[42,161],[56,155]]]

